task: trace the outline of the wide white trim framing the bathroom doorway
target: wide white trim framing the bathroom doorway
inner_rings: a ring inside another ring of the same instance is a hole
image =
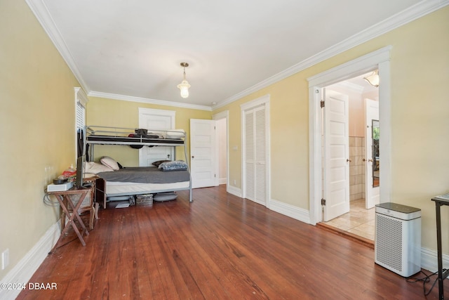
[[[378,69],[380,74],[379,123],[382,132],[380,153],[382,153],[382,160],[384,160],[384,168],[380,169],[380,177],[382,178],[380,202],[389,202],[390,200],[391,82],[389,60],[391,48],[391,46],[380,48],[365,56],[307,78],[309,81],[309,215],[311,224],[315,225],[322,219],[321,88],[375,69]]]

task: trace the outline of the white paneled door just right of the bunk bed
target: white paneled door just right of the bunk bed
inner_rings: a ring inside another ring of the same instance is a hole
[[[192,188],[218,185],[215,120],[190,119]]]

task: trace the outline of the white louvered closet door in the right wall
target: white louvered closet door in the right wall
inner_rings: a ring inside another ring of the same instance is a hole
[[[265,107],[245,114],[246,198],[267,203],[267,132]]]

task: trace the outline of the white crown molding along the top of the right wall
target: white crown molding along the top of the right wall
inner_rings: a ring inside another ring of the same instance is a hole
[[[264,81],[260,81],[258,84],[255,84],[254,86],[251,86],[250,88],[241,91],[240,93],[236,93],[234,96],[230,98],[220,101],[220,103],[217,103],[217,105],[213,106],[213,109],[215,110],[219,107],[225,106],[229,103],[239,100],[244,96],[248,96],[250,95],[250,93],[259,91],[260,89],[263,89],[271,84],[281,81],[282,79],[286,79],[287,77],[290,77],[293,74],[296,74],[297,72],[301,72],[302,70],[305,70],[308,67],[316,65],[317,63],[321,63],[323,60],[332,58],[333,56],[336,56],[337,54],[340,54],[344,51],[354,48],[355,46],[363,44],[366,41],[369,41],[370,39],[379,37],[380,35],[390,32],[391,30],[401,27],[402,25],[406,25],[408,22],[412,22],[413,20],[417,20],[423,17],[424,15],[437,11],[438,9],[443,8],[448,4],[449,0],[420,1],[414,6],[410,6],[410,8],[407,8],[406,10],[401,11],[400,13],[396,13],[396,15],[392,15],[390,18],[387,18],[382,22],[379,22],[371,27],[368,27],[366,30],[362,30],[357,34],[354,34],[353,36],[344,39],[343,41],[340,41],[340,43],[337,43],[334,46],[331,46],[330,48],[321,51],[320,53],[316,53],[314,56],[311,56],[310,58],[307,58],[306,60],[303,60],[302,62],[297,63],[292,67],[288,67],[288,69],[283,70],[282,72],[279,72],[278,74],[275,74],[274,76],[269,77]]]

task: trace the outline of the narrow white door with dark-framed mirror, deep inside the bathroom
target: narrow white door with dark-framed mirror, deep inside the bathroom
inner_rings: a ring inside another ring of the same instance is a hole
[[[365,100],[365,197],[366,209],[380,203],[379,182],[379,102]]]

